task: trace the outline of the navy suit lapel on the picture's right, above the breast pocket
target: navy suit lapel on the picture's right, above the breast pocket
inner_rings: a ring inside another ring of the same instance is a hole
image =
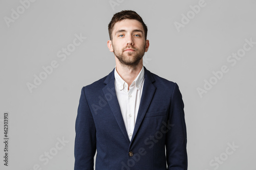
[[[136,133],[138,132],[138,129],[142,123],[142,120],[143,120],[145,114],[146,114],[147,108],[150,106],[150,103],[151,103],[154,93],[156,91],[156,87],[152,84],[155,81],[155,79],[152,76],[152,73],[150,71],[148,71],[145,67],[144,67],[144,71],[145,71],[144,85],[143,85],[140,106],[139,106],[138,115],[136,118],[136,123],[135,123],[135,128],[133,131],[133,137],[131,139],[131,143],[134,140]]]

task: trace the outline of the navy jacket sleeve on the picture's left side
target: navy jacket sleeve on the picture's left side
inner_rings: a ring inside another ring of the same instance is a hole
[[[75,132],[74,170],[93,170],[96,152],[96,128],[87,103],[85,87],[81,90]]]

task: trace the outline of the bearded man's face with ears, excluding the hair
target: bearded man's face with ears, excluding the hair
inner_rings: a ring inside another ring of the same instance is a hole
[[[108,41],[110,51],[120,63],[136,66],[147,52],[149,42],[144,38],[142,24],[135,19],[124,19],[114,25],[112,41]]]

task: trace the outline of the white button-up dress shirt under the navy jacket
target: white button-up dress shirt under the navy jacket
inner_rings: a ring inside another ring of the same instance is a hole
[[[136,123],[136,118],[140,106],[140,99],[144,84],[144,66],[142,66],[138,76],[130,85],[120,77],[115,66],[115,89],[117,100],[123,116],[126,132],[131,141]]]

